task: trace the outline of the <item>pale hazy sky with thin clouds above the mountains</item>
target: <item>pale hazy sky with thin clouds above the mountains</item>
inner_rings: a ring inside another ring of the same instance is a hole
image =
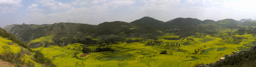
[[[142,17],[169,21],[191,17],[214,21],[256,19],[255,0],[0,0],[0,26],[132,22]]]

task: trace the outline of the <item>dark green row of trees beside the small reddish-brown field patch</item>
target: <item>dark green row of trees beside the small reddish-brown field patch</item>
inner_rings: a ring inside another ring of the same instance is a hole
[[[90,49],[87,47],[83,47],[83,53],[90,53],[90,52],[104,52],[104,51],[112,51],[114,52],[115,50],[112,49],[111,47],[97,47],[96,49]]]

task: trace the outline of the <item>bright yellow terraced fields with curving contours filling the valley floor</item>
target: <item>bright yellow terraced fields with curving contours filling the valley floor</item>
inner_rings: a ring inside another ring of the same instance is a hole
[[[223,40],[220,36],[230,37],[230,39]],[[233,36],[247,37],[248,39],[236,42],[232,39]],[[41,51],[45,57],[50,58],[59,67],[188,67],[197,63],[214,63],[225,54],[230,55],[234,51],[250,49],[253,45],[252,42],[256,39],[252,34],[228,35],[225,33],[214,36],[190,36],[180,40],[164,39],[168,37],[177,38],[179,36],[175,36],[173,33],[159,36],[158,40],[162,43],[154,46],[146,45],[150,40],[135,43],[119,42],[120,44],[107,45],[115,52],[91,52],[86,57],[79,57],[83,54],[81,47],[95,49],[96,44],[76,43],[64,47],[51,45],[47,48],[40,47],[33,50]],[[181,45],[169,45],[171,43]],[[159,54],[164,50],[167,51],[167,54]],[[75,56],[76,53],[78,54]]]

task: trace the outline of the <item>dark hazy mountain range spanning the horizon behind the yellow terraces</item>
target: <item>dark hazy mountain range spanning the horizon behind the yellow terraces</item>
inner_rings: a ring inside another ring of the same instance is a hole
[[[202,26],[201,24],[208,25]],[[163,35],[163,33],[159,31],[166,31],[175,28],[182,29],[185,26],[190,26],[201,31],[214,31],[215,28],[227,28],[229,26],[238,26],[240,24],[242,23],[234,19],[223,19],[215,22],[213,20],[201,21],[196,18],[180,17],[171,21],[163,22],[151,17],[142,17],[130,23],[114,21],[100,23],[99,25],[82,23],[54,23],[43,25],[12,24],[6,25],[4,30],[12,33],[12,35],[20,39],[25,44],[28,44],[31,40],[38,39],[40,37],[55,35],[52,38],[53,43],[65,46],[67,44],[72,44],[72,41],[60,40],[60,38],[81,38],[83,40],[83,38],[86,37],[144,37],[148,36],[148,34],[160,36]]]

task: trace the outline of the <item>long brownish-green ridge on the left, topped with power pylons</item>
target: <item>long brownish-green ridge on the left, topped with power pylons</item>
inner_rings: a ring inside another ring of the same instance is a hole
[[[151,25],[138,25],[121,21],[104,22],[99,25],[82,23],[54,23],[44,25],[13,24],[4,27],[25,44],[32,48],[46,45],[65,46],[73,43],[96,44],[97,41],[86,38],[101,37],[143,37],[146,34],[162,35]],[[38,41],[33,41],[39,39]],[[40,40],[40,39],[47,39]],[[86,42],[86,43],[85,43]]]

